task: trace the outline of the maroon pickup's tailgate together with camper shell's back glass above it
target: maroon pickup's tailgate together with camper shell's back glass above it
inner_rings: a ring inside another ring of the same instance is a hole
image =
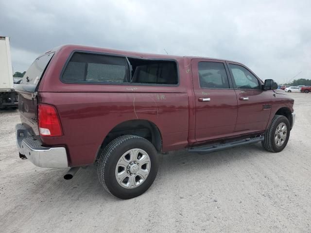
[[[35,59],[19,84],[15,84],[18,93],[18,109],[21,122],[32,135],[38,135],[37,104],[35,95],[37,86],[54,53]]]

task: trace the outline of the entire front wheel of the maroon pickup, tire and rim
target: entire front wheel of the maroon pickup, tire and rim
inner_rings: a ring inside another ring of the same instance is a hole
[[[290,137],[290,122],[285,116],[276,115],[265,133],[264,140],[261,141],[262,147],[271,152],[282,151]]]

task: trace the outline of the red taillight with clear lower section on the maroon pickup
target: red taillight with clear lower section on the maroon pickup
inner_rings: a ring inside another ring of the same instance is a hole
[[[41,136],[57,137],[63,135],[57,110],[52,105],[38,105],[38,125]]]

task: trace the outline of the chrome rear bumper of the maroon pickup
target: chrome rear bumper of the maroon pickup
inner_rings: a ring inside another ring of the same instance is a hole
[[[16,144],[19,153],[35,166],[67,168],[67,152],[64,147],[43,147],[35,137],[29,136],[22,124],[16,125]]]

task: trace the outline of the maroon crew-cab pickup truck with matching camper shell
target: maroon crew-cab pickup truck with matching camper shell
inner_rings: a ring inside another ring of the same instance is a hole
[[[237,62],[64,45],[16,85],[19,156],[70,168],[65,179],[96,164],[108,192],[133,198],[155,180],[157,153],[283,150],[294,100],[276,88]]]

